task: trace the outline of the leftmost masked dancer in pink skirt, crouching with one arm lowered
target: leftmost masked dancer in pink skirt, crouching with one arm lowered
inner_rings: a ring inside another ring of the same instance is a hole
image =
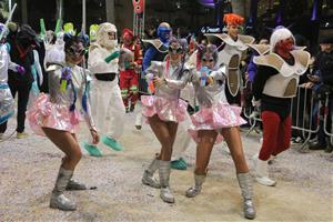
[[[50,208],[73,211],[75,203],[63,195],[64,190],[87,189],[72,179],[82,157],[75,135],[80,120],[77,108],[79,101],[93,143],[99,142],[99,134],[90,113],[88,74],[78,65],[84,57],[87,40],[65,34],[64,41],[65,61],[48,68],[50,94],[41,93],[27,114],[31,129],[37,134],[48,137],[65,154],[52,191]]]

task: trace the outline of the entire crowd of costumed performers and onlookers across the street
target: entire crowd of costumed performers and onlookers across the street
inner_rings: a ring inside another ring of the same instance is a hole
[[[155,38],[142,40],[130,29],[118,38],[117,27],[109,22],[92,26],[90,38],[75,34],[69,23],[63,31],[46,34],[37,34],[28,24],[0,24],[0,140],[6,139],[18,94],[17,138],[28,137],[27,117],[36,134],[47,137],[64,153],[50,208],[75,210],[64,191],[88,189],[72,179],[82,157],[77,139],[82,118],[92,137],[83,142],[83,149],[102,157],[100,141],[115,151],[124,149],[119,141],[123,120],[125,113],[135,111],[135,128],[140,130],[144,120],[161,143],[142,183],[160,189],[168,203],[175,202],[171,169],[186,169],[182,153],[191,139],[196,143],[196,159],[188,198],[200,194],[212,149],[224,140],[246,219],[254,219],[256,212],[240,133],[248,122],[242,107],[261,112],[263,140],[253,157],[254,178],[260,184],[276,184],[269,176],[269,161],[290,148],[291,101],[300,85],[313,89],[320,98],[330,97],[329,110],[324,109],[327,121],[319,122],[317,142],[310,149],[332,152],[326,132],[332,133],[333,38],[321,40],[321,52],[313,62],[287,28],[276,27],[271,37],[255,41],[241,33],[242,17],[230,13],[223,21],[225,33],[209,33],[198,41],[173,36],[167,22],[157,28]],[[246,93],[243,85],[248,85]],[[321,101],[313,108],[316,112],[322,112]],[[141,105],[135,105],[138,102]]]

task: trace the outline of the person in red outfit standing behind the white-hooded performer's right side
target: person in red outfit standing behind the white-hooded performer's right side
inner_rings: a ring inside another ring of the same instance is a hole
[[[130,29],[122,31],[122,40],[121,48],[130,50],[132,56],[127,57],[128,59],[121,65],[120,90],[127,112],[133,112],[139,97],[139,72],[142,64],[142,51]],[[129,101],[131,102],[130,104]]]

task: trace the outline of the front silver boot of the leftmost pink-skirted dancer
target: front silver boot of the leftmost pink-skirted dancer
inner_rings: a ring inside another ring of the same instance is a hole
[[[56,181],[56,186],[52,191],[52,195],[50,200],[50,208],[60,209],[62,211],[77,210],[75,203],[63,195],[63,192],[68,186],[68,183],[72,178],[72,175],[73,175],[73,171],[65,170],[60,167],[58,178]]]

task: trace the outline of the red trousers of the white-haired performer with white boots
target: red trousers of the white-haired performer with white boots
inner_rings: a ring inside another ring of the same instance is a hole
[[[290,147],[291,117],[281,120],[280,115],[272,111],[262,112],[263,142],[259,153],[260,160],[269,160],[271,155],[278,155]]]

